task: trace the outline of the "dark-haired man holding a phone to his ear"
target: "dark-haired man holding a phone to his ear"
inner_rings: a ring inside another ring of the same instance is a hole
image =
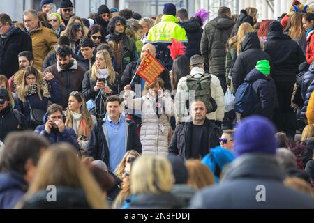
[[[34,131],[35,133],[46,137],[51,144],[60,142],[72,144],[77,148],[77,152],[80,153],[80,147],[77,143],[77,137],[74,130],[64,125],[66,116],[62,114],[62,107],[60,105],[50,105],[44,118],[45,125],[37,126]]]

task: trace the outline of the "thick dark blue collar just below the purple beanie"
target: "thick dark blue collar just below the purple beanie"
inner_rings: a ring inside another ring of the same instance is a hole
[[[241,155],[225,170],[223,183],[237,178],[263,178],[282,181],[281,171],[276,156],[262,154]]]

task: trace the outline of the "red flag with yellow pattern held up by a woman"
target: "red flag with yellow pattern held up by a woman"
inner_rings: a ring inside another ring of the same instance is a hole
[[[163,65],[154,57],[149,54],[149,50],[144,54],[140,66],[137,68],[136,73],[144,78],[147,83],[153,83],[156,78],[165,70]]]

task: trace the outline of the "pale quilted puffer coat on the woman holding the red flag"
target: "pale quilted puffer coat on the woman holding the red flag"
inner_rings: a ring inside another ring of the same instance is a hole
[[[154,102],[155,98],[149,93],[142,98],[133,99],[135,93],[125,93],[124,99],[128,109],[141,109],[142,127],[140,130],[140,141],[142,143],[142,154],[167,155],[168,154],[168,136],[171,129],[170,117],[173,112],[173,101],[170,93],[163,95],[163,112],[158,118]]]

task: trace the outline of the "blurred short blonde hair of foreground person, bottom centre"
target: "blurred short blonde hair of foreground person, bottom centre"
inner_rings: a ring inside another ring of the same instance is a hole
[[[174,184],[172,166],[167,157],[142,155],[135,160],[130,173],[132,194],[170,192]]]

